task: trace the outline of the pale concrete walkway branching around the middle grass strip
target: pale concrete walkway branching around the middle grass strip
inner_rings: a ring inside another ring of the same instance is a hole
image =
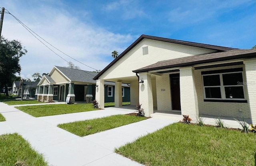
[[[114,153],[114,148],[132,142],[142,135],[154,132],[172,120],[150,118],[108,131],[79,137],[58,128],[59,123],[94,119],[134,112],[134,109],[109,107],[104,110],[32,117],[27,113],[0,102],[0,113],[6,121],[0,122],[0,135],[19,133],[32,147],[44,154],[53,166],[141,166]]]

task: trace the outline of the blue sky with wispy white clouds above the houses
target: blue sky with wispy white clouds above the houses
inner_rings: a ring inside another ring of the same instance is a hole
[[[240,49],[256,45],[255,0],[5,0],[0,7],[98,70],[113,60],[113,50],[122,53],[142,34]],[[18,39],[28,50],[20,60],[23,77],[67,66],[9,14],[2,35]]]

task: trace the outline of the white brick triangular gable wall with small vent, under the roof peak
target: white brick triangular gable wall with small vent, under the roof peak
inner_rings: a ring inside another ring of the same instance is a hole
[[[148,46],[148,55],[142,55],[142,47]],[[132,70],[154,64],[158,61],[188,57],[203,53],[210,53],[213,50],[198,47],[179,45],[151,39],[143,39],[124,57],[110,67],[99,79],[115,79],[122,77],[131,77],[136,75]],[[125,69],[125,70],[124,70]]]

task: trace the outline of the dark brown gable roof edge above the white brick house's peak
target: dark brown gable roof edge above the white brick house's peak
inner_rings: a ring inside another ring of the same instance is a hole
[[[97,80],[104,72],[106,72],[106,70],[108,70],[111,66],[113,66],[119,59],[121,59],[124,55],[126,55],[126,53],[128,53],[132,48],[134,48],[143,39],[152,39],[152,40],[164,41],[164,42],[168,42],[168,43],[176,43],[176,44],[188,45],[188,46],[193,46],[193,47],[200,47],[200,48],[205,48],[205,49],[213,49],[213,50],[216,50],[218,52],[235,50],[235,48],[230,48],[230,47],[222,47],[222,46],[216,46],[216,45],[194,43],[194,42],[190,42],[190,41],[182,41],[182,40],[168,39],[168,38],[163,38],[163,37],[141,35],[136,41],[134,41],[134,43],[132,43],[132,45],[130,45],[126,50],[124,50],[124,52],[122,52],[116,59],[114,59],[114,61],[112,61],[110,64],[108,64],[108,66],[106,66],[93,79]]]

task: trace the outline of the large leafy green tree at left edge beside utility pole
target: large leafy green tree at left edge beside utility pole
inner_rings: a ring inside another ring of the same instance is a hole
[[[20,57],[26,53],[27,50],[22,47],[20,41],[0,38],[0,87],[4,86],[7,89],[8,85],[12,84],[15,74],[20,74]]]

